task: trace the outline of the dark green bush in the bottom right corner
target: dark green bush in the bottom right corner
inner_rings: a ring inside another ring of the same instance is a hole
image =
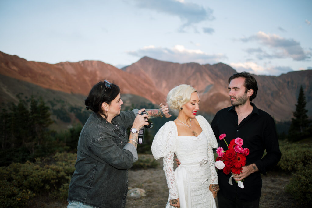
[[[286,192],[290,193],[296,201],[302,206],[310,207],[312,205],[312,161],[308,165],[298,165],[297,172],[293,174],[289,184],[286,186]]]

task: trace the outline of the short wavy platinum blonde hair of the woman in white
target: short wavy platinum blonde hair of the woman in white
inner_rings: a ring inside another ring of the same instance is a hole
[[[167,95],[167,104],[171,110],[178,112],[181,107],[191,100],[193,92],[197,92],[191,85],[179,85],[171,89]]]

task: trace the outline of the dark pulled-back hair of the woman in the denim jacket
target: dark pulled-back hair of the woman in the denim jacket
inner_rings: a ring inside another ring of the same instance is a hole
[[[110,89],[111,88],[111,89]],[[102,114],[105,119],[106,115],[102,108],[102,103],[111,104],[120,92],[120,88],[115,84],[110,84],[110,88],[105,86],[105,81],[100,81],[92,87],[88,97],[85,99],[85,106],[95,113]]]

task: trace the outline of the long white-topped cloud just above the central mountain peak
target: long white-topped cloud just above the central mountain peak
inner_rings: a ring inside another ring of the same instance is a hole
[[[220,62],[220,60],[227,59],[227,56],[224,54],[207,54],[201,50],[186,49],[181,45],[176,45],[171,49],[145,46],[137,51],[127,51],[127,53],[133,56],[149,56],[154,59],[177,63],[215,64]]]

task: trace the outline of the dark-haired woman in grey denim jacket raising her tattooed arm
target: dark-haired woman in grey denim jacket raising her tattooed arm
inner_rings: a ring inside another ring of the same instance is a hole
[[[94,85],[85,99],[93,113],[81,130],[75,172],[68,190],[67,207],[124,207],[128,169],[138,160],[138,131],[149,119],[170,117],[168,107],[120,112],[120,89],[107,80]],[[128,137],[127,128],[132,126]]]

